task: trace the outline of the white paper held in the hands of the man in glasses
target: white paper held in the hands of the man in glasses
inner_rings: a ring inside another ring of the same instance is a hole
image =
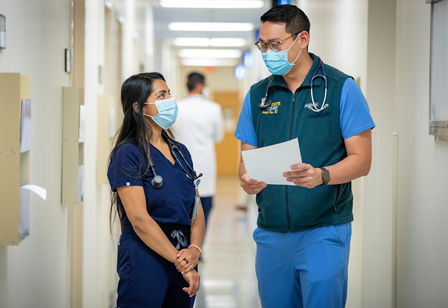
[[[291,166],[302,163],[299,140],[293,139],[277,145],[242,151],[244,166],[249,178],[273,185],[294,185],[286,181],[284,172]]]

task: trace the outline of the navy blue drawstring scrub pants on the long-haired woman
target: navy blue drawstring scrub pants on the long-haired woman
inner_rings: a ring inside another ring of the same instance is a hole
[[[177,239],[170,234],[173,229],[182,230],[190,242],[189,227],[162,228],[171,243]],[[195,268],[197,271],[197,267]],[[194,298],[182,290],[187,281],[176,270],[174,263],[155,253],[137,236],[131,225],[123,226],[118,246],[117,272],[118,308],[191,308]]]

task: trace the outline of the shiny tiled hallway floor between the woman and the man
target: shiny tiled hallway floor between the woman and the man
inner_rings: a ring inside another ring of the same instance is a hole
[[[252,239],[256,214],[253,205],[247,212],[236,208],[243,202],[239,196],[244,199],[237,176],[218,178],[195,308],[261,308]]]

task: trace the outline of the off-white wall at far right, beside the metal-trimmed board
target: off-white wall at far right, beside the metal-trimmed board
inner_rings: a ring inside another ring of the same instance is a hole
[[[396,307],[447,307],[448,143],[428,134],[429,4],[397,0],[396,42]]]

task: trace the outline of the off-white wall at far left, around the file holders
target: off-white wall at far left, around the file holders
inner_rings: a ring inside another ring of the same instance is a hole
[[[47,189],[47,200],[30,193],[30,236],[0,247],[0,307],[69,307],[69,207],[61,205],[62,87],[64,49],[71,48],[67,0],[0,1],[6,16],[0,72],[31,75],[30,182]],[[0,98],[1,100],[1,98]],[[5,177],[6,175],[1,175]]]

